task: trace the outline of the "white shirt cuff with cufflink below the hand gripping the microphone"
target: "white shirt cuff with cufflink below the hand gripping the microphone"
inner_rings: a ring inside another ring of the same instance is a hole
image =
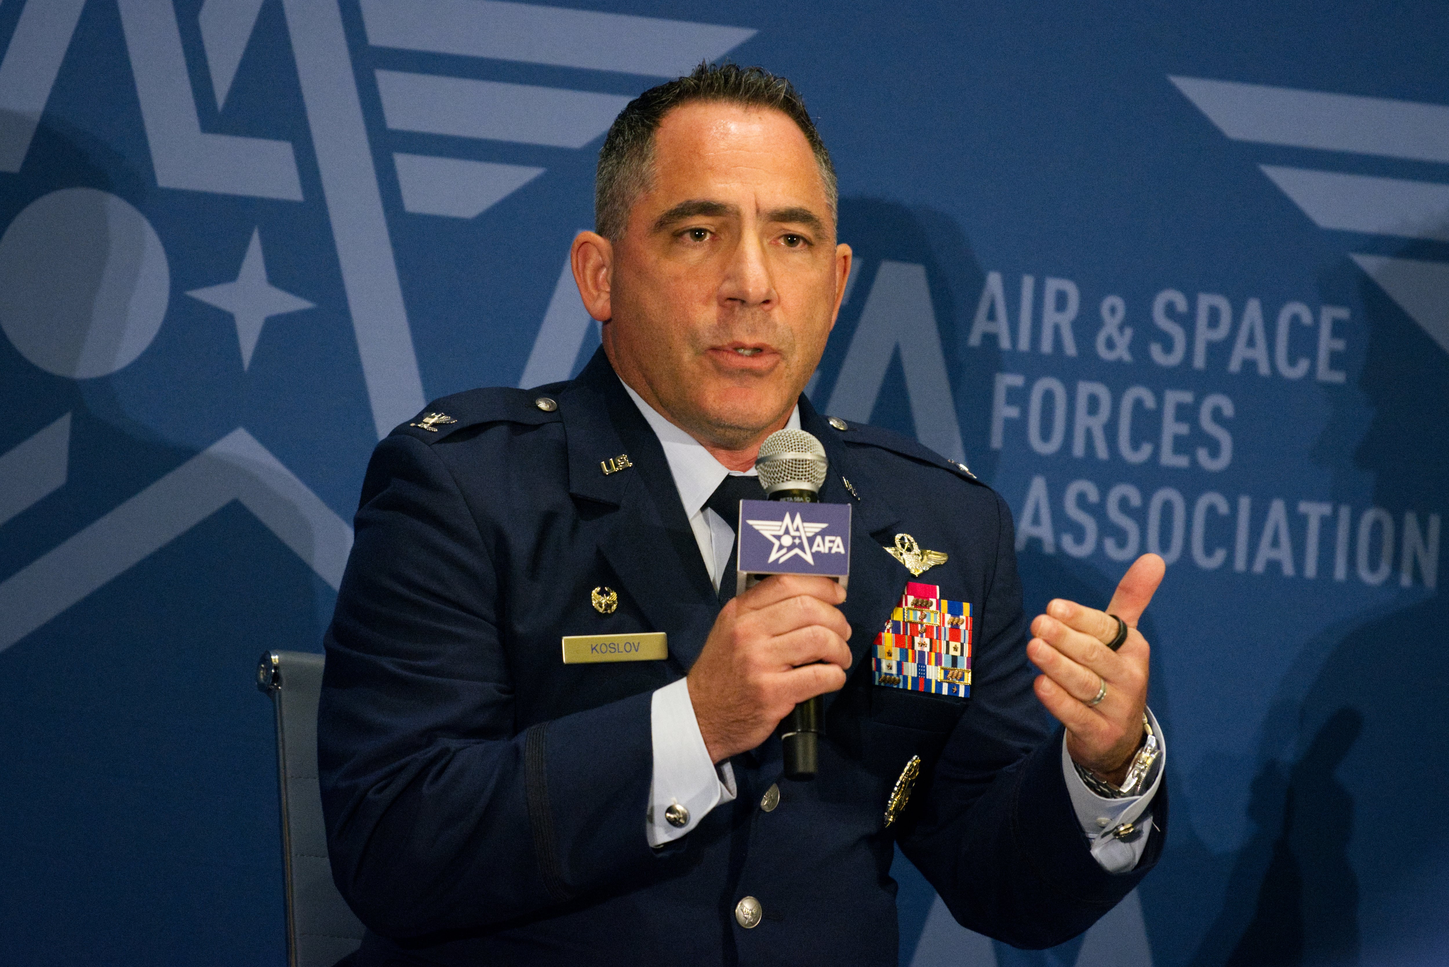
[[[653,732],[653,779],[649,783],[649,809],[645,835],[649,845],[662,847],[685,835],[722,802],[735,801],[735,769],[729,761],[717,767],[710,761],[687,679],[655,691],[649,702],[649,728]],[[665,818],[669,806],[681,806],[682,825]]]

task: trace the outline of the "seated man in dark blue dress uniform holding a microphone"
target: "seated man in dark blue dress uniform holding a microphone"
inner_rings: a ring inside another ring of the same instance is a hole
[[[1117,617],[1053,601],[1029,638],[1001,498],[801,395],[851,249],[784,80],[648,91],[596,204],[578,379],[439,400],[368,468],[319,721],[354,963],[895,964],[897,843],[972,929],[1084,931],[1161,851],[1135,630],[1161,559]],[[732,508],[784,427],[852,507],[849,595],[730,594]],[[814,695],[819,774],[790,780],[777,725]]]

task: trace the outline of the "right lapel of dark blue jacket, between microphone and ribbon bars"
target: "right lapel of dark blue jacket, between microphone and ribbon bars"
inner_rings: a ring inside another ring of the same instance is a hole
[[[853,670],[871,653],[875,635],[906,592],[909,572],[885,553],[885,544],[894,540],[900,514],[884,494],[865,492],[856,499],[845,489],[843,481],[851,476],[851,452],[840,442],[840,431],[826,423],[806,397],[800,397],[800,428],[820,440],[830,460],[820,499],[851,505],[851,583],[840,611],[852,628]]]

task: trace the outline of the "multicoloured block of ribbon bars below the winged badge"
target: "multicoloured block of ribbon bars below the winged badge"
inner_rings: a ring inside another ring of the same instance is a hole
[[[910,582],[871,659],[875,683],[932,695],[971,695],[971,602]]]

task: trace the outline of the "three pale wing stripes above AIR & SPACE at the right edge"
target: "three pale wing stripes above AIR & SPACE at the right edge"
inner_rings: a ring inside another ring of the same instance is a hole
[[[1233,140],[1449,165],[1449,106],[1169,77]],[[1259,165],[1320,229],[1449,242],[1445,182]],[[1449,352],[1449,262],[1352,253]]]

